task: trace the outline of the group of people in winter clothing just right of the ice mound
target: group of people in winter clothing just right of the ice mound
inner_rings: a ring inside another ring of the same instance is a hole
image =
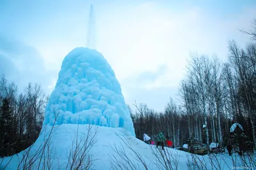
[[[172,141],[170,141],[169,139],[166,140],[166,138],[164,137],[164,132],[159,132],[159,134],[157,134],[157,136],[154,136],[154,138],[156,139],[156,146],[161,146],[162,150],[164,150],[164,142],[166,142],[166,145],[168,147],[172,146]],[[154,145],[154,141],[151,141],[151,138],[147,134],[143,134],[143,140],[149,145]]]

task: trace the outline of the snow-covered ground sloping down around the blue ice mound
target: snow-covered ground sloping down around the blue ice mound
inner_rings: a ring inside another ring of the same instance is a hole
[[[66,168],[68,162],[68,155],[72,147],[72,142],[75,144],[76,141],[79,141],[79,139],[86,137],[88,134],[88,127],[89,125],[62,124],[55,126],[53,128],[51,138],[49,140],[49,144],[51,145],[51,152],[49,152],[50,157],[48,157],[47,154],[47,147],[45,149],[45,157],[43,157],[43,160],[49,160],[49,158],[51,158],[53,164],[50,169]],[[114,151],[115,145],[119,149],[120,146],[124,146],[125,154],[128,155],[128,157],[134,164],[136,164],[136,166],[138,166],[138,169],[145,169],[143,167],[143,164],[140,164],[140,162],[136,160],[137,157],[134,157],[134,152],[132,152],[131,149],[125,146],[125,143],[124,141],[122,141],[122,139],[125,139],[125,141],[127,141],[127,143],[131,145],[131,148],[134,151],[136,151],[136,153],[140,154],[140,157],[145,160],[149,169],[162,169],[159,166],[161,166],[161,164],[163,163],[161,163],[163,159],[161,159],[161,156],[159,154],[160,152],[159,150],[156,149],[156,146],[147,145],[143,141],[140,141],[139,139],[136,139],[134,136],[131,136],[131,134],[127,133],[127,131],[125,131],[125,129],[123,128],[116,129],[112,127],[101,127],[93,125],[90,132],[92,132],[93,134],[95,132],[95,129],[97,128],[98,132],[95,138],[97,139],[97,142],[92,146],[92,150],[90,150],[90,153],[92,153],[93,155],[93,159],[95,159],[95,161],[93,162],[93,169],[111,169],[110,160],[111,157],[113,158],[113,155],[115,155],[118,158],[118,160],[122,160],[120,159],[120,157],[118,157],[118,155],[116,155]],[[51,129],[51,126],[46,126],[46,128],[43,131],[45,133],[42,133],[36,140],[35,144],[31,147],[29,158],[36,155],[36,152],[38,150],[42,151],[42,146],[44,145],[44,142],[47,141],[47,135],[45,134],[49,134]],[[78,136],[78,138],[76,138],[76,136]],[[83,139],[83,141],[85,140]],[[81,146],[82,145],[83,142],[81,143]],[[167,157],[170,156],[171,165],[173,166],[173,169],[175,169],[175,163],[177,163],[178,169],[188,169],[188,159],[191,160],[190,153],[175,150],[173,148],[165,148],[165,150],[166,152],[168,152]],[[160,156],[160,159],[157,159],[154,152],[157,153],[158,156]],[[5,158],[3,160],[1,168],[3,168],[10,161],[6,169],[17,169],[19,162],[22,159],[22,155],[24,153],[26,152],[21,152],[17,155],[14,155],[13,157]],[[196,155],[196,157],[198,159],[204,160],[203,162],[205,162],[207,169],[212,169],[208,155]],[[218,161],[220,162],[219,167],[221,167],[221,169],[232,169],[232,159],[230,156],[228,156],[227,153],[218,154],[217,158]],[[239,160],[239,157],[237,155],[236,159]],[[175,162],[175,160],[178,160],[179,162]],[[40,157],[38,157],[38,159],[34,162],[32,169],[38,169],[38,164],[41,164],[40,169],[42,169],[43,162],[44,161],[40,162]],[[237,164],[237,166],[239,165]]]

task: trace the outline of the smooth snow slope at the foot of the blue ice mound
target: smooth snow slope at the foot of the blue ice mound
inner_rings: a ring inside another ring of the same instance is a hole
[[[163,168],[164,161],[161,156],[164,155],[164,152],[161,150],[161,148],[159,148],[159,150],[154,145],[148,145],[140,139],[136,139],[134,136],[129,136],[129,132],[127,132],[124,128],[111,128],[97,125],[92,125],[91,127],[92,130],[90,131],[88,140],[90,141],[92,136],[95,134],[94,132],[97,131],[95,143],[92,145],[89,142],[84,146],[84,139],[89,134],[88,129],[90,129],[90,125],[44,125],[42,134],[38,137],[38,139],[36,139],[36,142],[31,146],[31,148],[29,147],[17,155],[13,155],[13,157],[6,157],[3,160],[0,159],[0,162],[3,161],[0,169],[3,169],[6,164],[8,164],[8,166],[5,168],[6,170],[14,170],[17,169],[17,167],[19,167],[19,169],[29,169],[26,168],[28,166],[31,167],[30,169],[48,169],[48,167],[44,167],[45,165],[51,165],[51,168],[49,169],[62,170],[66,169],[66,167],[67,169],[71,169],[70,166],[67,166],[68,162],[70,162],[69,155],[70,151],[72,151],[71,153],[76,152],[77,143],[79,146],[78,148],[81,149],[80,153],[83,153],[84,148],[87,148],[88,150],[88,146],[92,146],[92,148],[86,152],[86,155],[92,155],[92,160],[94,160],[93,167],[90,169],[114,169],[111,164],[111,157],[114,158],[114,156],[118,161],[122,161],[124,156],[127,156],[131,160],[131,162],[128,163],[138,166],[136,169],[145,169],[143,164],[138,161],[138,157],[134,155],[132,150],[139,154],[140,159],[145,160],[145,164],[147,164],[149,167],[148,169],[167,169]],[[82,143],[79,142],[81,139]],[[132,150],[125,145],[125,142],[131,146]],[[46,146],[45,150],[42,150],[44,146]],[[124,150],[122,155],[116,154],[115,146],[118,148],[118,150]],[[195,156],[193,158],[190,153],[175,150],[173,148],[164,148],[164,150],[166,150],[166,157],[168,157],[170,160],[170,164],[172,165],[173,169],[189,169],[188,164],[191,164],[190,166],[193,167]],[[153,152],[157,153],[157,156],[154,155]],[[28,160],[22,159],[26,153],[28,153]],[[218,159],[220,158],[220,160],[218,160],[221,166],[220,169],[231,169],[233,164],[231,157],[228,156],[228,153],[223,155],[221,154],[220,156],[221,157],[218,157]],[[235,159],[236,157],[238,159],[239,155],[234,154],[234,157]],[[77,160],[80,159],[78,158]],[[211,160],[209,160],[207,155],[197,155],[196,160],[198,161],[199,165],[200,162],[204,162],[205,169],[212,169]],[[124,163],[126,165],[128,164],[127,162]],[[175,164],[177,164],[177,168],[175,168]],[[218,165],[216,165],[216,167],[218,167]],[[117,169],[125,168],[118,167]]]

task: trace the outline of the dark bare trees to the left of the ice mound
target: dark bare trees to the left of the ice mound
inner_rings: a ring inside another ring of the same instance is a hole
[[[1,157],[18,153],[32,145],[44,121],[47,97],[38,84],[28,84],[19,93],[15,83],[0,80],[0,141]]]

